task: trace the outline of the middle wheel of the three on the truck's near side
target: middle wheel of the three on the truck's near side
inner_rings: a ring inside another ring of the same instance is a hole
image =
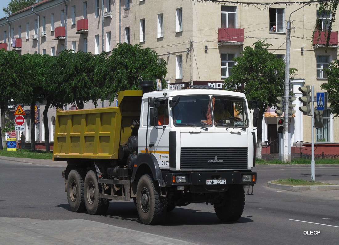
[[[103,215],[108,209],[109,200],[100,198],[100,191],[101,186],[99,186],[97,175],[93,170],[89,170],[84,182],[85,207],[89,214]]]

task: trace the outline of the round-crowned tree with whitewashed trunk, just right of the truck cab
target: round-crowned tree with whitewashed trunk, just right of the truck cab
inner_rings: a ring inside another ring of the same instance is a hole
[[[275,105],[276,97],[283,95],[285,61],[268,52],[272,44],[266,43],[266,40],[258,40],[253,46],[246,46],[242,56],[233,59],[236,64],[224,86],[226,90],[240,90],[248,100],[261,102],[257,127],[257,158],[261,158],[262,120],[267,108]],[[295,71],[290,69],[292,80]]]

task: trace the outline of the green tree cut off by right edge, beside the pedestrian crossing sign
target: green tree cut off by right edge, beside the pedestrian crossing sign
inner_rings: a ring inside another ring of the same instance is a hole
[[[321,84],[321,88],[327,90],[327,99],[331,101],[331,113],[335,117],[339,116],[339,60],[330,63],[328,69],[324,69],[327,74],[327,82]]]

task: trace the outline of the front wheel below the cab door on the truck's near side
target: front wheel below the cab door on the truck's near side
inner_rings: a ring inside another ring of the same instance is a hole
[[[137,210],[143,224],[155,225],[166,215],[166,198],[148,174],[142,175],[137,187]]]

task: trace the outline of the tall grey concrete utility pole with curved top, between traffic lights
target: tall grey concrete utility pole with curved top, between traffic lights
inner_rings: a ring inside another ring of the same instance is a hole
[[[285,55],[285,84],[284,84],[284,147],[283,147],[283,162],[288,162],[288,96],[290,92],[290,53],[291,53],[291,16],[294,12],[309,5],[314,0],[302,5],[297,10],[291,12],[286,25],[286,55]],[[313,100],[313,98],[312,98]],[[312,128],[313,129],[313,128]]]

